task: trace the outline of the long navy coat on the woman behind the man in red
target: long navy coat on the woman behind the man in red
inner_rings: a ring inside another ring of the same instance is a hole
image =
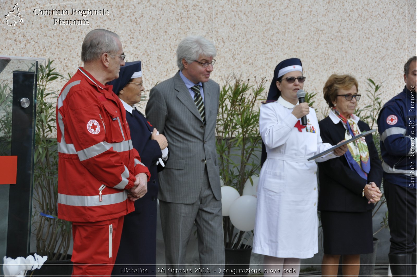
[[[148,276],[156,275],[156,201],[158,198],[158,167],[156,162],[162,151],[156,140],[151,139],[153,127],[137,110],[126,111],[133,147],[139,152],[141,161],[151,172],[148,192],[135,201],[135,211],[124,219],[119,251],[113,275],[119,275],[125,264],[141,265]],[[161,169],[163,169],[161,167]],[[135,238],[135,239],[132,239]],[[153,270],[153,271],[152,271]]]

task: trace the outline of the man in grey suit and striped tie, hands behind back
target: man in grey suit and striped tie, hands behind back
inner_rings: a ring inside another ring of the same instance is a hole
[[[169,160],[158,175],[166,264],[185,264],[195,222],[202,274],[219,274],[224,266],[215,134],[220,87],[210,80],[214,56],[210,41],[184,38],[177,48],[180,70],[151,89],[146,106],[146,117],[170,146]],[[181,273],[173,271],[167,273]]]

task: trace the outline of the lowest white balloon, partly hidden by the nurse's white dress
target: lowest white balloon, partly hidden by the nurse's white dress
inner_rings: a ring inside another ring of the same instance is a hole
[[[251,231],[255,228],[256,198],[243,195],[230,206],[230,221],[241,231]]]

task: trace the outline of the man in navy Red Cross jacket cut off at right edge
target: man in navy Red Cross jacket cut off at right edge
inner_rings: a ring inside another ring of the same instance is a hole
[[[378,117],[392,276],[416,276],[416,56],[404,65],[404,81]]]

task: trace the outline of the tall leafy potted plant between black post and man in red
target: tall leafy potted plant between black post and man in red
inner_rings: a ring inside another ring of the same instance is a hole
[[[52,81],[63,76],[55,72],[52,63],[53,60],[48,60],[45,65],[40,65],[38,75],[32,223],[36,252],[48,256],[45,264],[49,261],[62,264],[70,258],[71,222],[58,219],[58,149],[53,138],[56,136],[57,91],[51,90],[50,86]]]

